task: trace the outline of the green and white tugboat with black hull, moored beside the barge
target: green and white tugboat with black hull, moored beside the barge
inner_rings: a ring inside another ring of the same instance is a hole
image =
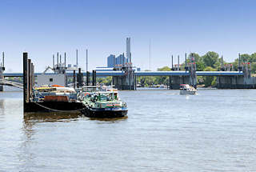
[[[89,118],[123,118],[128,108],[126,102],[118,97],[118,90],[83,87],[82,102],[87,107],[82,113]]]

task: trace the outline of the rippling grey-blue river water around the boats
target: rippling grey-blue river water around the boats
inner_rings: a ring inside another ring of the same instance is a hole
[[[256,90],[120,91],[128,118],[23,118],[0,93],[0,171],[256,171]]]

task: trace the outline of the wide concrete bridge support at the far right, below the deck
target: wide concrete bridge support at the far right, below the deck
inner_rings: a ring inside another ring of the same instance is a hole
[[[255,77],[245,76],[218,76],[218,89],[254,89],[256,88]]]

